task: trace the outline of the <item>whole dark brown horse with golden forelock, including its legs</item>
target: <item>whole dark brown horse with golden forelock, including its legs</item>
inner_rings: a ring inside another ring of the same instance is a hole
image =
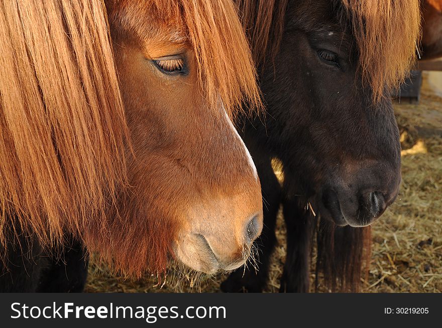
[[[262,290],[282,203],[287,258],[280,291],[309,290],[314,237],[316,278],[322,275],[329,290],[355,291],[369,225],[399,191],[389,91],[415,57],[419,1],[237,3],[269,113],[265,124],[238,121],[261,180],[264,230],[258,273],[238,270],[222,289]],[[282,188],[273,158],[282,163]]]

